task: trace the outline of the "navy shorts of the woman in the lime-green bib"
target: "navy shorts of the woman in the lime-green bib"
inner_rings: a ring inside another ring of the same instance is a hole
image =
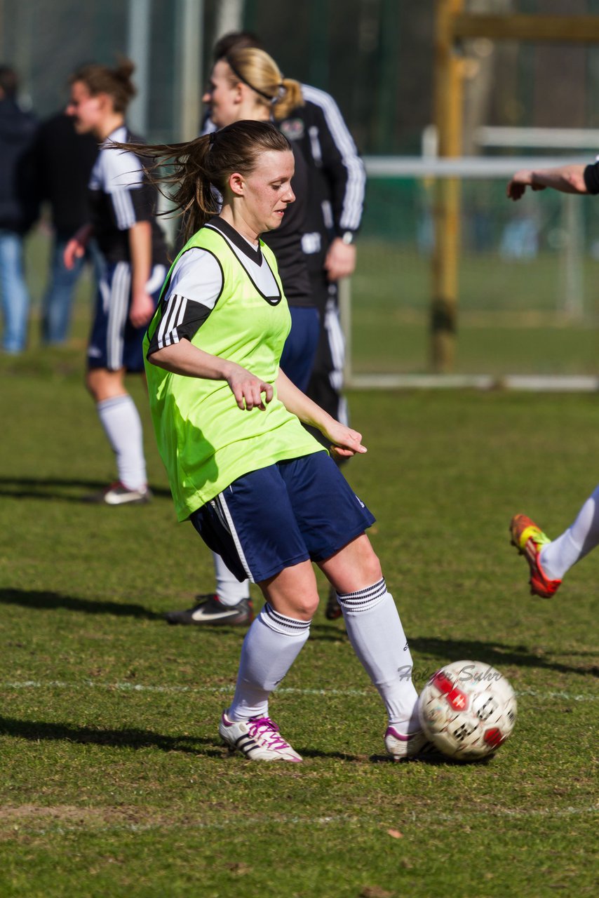
[[[329,559],[374,524],[325,452],[244,474],[190,519],[234,576],[252,583]]]

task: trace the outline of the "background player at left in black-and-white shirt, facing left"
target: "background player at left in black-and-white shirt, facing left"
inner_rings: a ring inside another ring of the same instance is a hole
[[[143,339],[166,273],[163,233],[155,222],[156,190],[145,178],[139,154],[110,151],[113,141],[139,142],[125,124],[135,95],[133,63],[112,69],[90,65],[71,75],[66,112],[79,134],[92,134],[100,154],[90,180],[91,222],[66,245],[66,268],[84,255],[94,236],[101,277],[87,350],[86,385],[117,459],[119,480],[97,501],[117,506],[150,497],[142,427],[125,388],[126,372],[143,372]]]

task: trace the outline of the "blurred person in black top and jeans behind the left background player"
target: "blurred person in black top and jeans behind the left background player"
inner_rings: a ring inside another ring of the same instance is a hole
[[[64,343],[69,336],[75,286],[85,260],[92,260],[91,240],[84,256],[75,257],[72,269],[64,260],[66,244],[90,217],[87,185],[98,156],[92,134],[77,134],[66,112],[43,122],[35,142],[35,165],[40,200],[47,202],[53,228],[48,286],[41,300],[41,340]]]

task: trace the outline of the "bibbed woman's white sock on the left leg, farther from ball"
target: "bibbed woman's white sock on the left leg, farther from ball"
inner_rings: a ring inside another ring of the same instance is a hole
[[[310,635],[311,621],[284,617],[267,602],[243,639],[237,685],[227,715],[266,717],[269,694],[286,675]]]

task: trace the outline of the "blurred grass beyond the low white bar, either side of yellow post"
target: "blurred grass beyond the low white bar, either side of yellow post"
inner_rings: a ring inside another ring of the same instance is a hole
[[[586,260],[585,314],[564,312],[555,254],[460,262],[457,374],[599,374],[597,263]],[[423,373],[430,358],[430,259],[391,242],[358,244],[352,277],[356,374]]]

